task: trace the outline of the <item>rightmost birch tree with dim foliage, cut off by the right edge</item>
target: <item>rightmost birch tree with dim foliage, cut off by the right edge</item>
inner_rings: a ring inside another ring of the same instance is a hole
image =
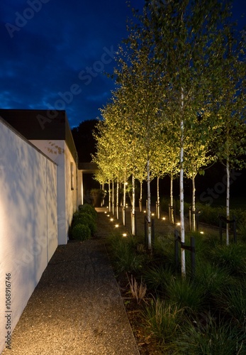
[[[226,219],[230,220],[230,171],[245,168],[246,129],[246,62],[245,35],[236,33],[227,24],[220,53],[221,70],[216,88],[220,93],[213,108],[216,113],[216,153],[226,171]],[[226,244],[229,245],[230,225],[226,225]]]

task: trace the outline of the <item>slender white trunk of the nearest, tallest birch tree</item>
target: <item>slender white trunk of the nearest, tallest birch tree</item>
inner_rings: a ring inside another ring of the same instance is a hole
[[[184,109],[184,89],[181,88],[181,114]],[[180,190],[180,238],[181,243],[185,242],[184,234],[184,119],[180,123],[181,144],[180,144],[180,176],[179,176],[179,190]],[[185,278],[185,250],[181,249],[181,275]]]

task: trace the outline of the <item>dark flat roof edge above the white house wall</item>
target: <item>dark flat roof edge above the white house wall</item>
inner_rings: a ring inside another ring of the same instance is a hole
[[[66,141],[74,160],[77,160],[66,111],[0,109],[0,116],[28,140]]]

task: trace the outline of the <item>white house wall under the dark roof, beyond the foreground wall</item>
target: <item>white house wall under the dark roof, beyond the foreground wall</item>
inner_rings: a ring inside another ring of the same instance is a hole
[[[76,161],[65,141],[33,140],[31,143],[57,163],[58,243],[67,244],[72,214],[79,202]],[[71,189],[71,163],[74,165],[74,190]]]

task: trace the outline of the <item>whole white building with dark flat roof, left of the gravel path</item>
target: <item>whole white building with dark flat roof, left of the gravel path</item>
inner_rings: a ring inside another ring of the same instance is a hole
[[[82,203],[65,111],[0,110],[0,353]]]

